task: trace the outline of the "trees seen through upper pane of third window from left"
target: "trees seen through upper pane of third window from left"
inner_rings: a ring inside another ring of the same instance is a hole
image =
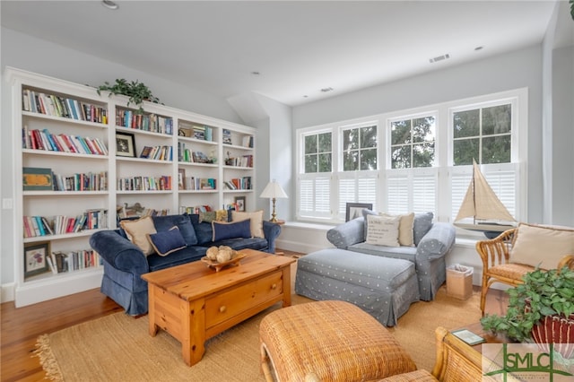
[[[433,166],[435,120],[427,116],[391,122],[391,169]]]

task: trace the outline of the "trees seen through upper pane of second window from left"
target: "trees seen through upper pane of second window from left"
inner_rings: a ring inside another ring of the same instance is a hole
[[[377,126],[343,130],[343,170],[377,169]]]

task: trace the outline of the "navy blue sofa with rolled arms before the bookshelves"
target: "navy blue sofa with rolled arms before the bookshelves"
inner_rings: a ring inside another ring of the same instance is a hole
[[[104,266],[100,291],[132,316],[143,315],[148,311],[147,282],[141,277],[143,273],[200,260],[205,256],[207,248],[212,246],[229,246],[236,250],[251,248],[274,253],[275,239],[281,233],[281,226],[263,221],[265,238],[222,239],[213,242],[212,224],[199,222],[197,214],[154,216],[152,219],[158,232],[177,226],[186,247],[168,256],[155,253],[144,256],[143,251],[127,239],[122,229],[100,230],[90,238],[90,245],[100,254]]]

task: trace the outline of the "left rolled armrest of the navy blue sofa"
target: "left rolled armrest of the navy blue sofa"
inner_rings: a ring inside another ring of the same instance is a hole
[[[118,230],[100,230],[91,235],[91,247],[114,268],[135,274],[148,273],[149,265],[142,250],[122,237]]]

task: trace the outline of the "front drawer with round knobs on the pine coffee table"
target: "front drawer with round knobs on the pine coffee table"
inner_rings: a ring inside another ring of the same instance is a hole
[[[205,300],[205,322],[215,326],[250,308],[283,294],[283,273],[266,274],[260,279]]]

